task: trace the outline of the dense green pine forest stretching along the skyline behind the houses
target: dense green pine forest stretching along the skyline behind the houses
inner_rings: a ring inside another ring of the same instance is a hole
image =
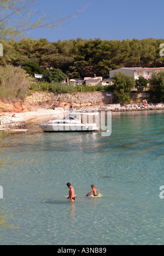
[[[69,78],[109,76],[109,71],[120,67],[162,67],[160,44],[164,39],[101,40],[81,38],[57,42],[47,39],[22,39],[19,42],[1,42],[4,58],[1,63],[20,66],[33,61],[46,68],[59,68]]]

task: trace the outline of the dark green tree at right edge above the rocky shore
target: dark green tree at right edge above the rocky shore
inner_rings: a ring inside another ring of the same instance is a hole
[[[154,72],[149,79],[151,98],[155,102],[164,102],[164,72]]]

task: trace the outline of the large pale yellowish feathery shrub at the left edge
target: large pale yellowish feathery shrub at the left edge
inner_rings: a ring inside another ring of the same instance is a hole
[[[20,67],[6,65],[0,67],[0,98],[3,101],[21,100],[26,96],[31,78]]]

